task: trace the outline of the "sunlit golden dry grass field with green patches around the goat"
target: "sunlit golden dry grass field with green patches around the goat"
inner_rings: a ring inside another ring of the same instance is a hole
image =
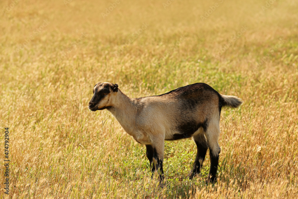
[[[297,1],[3,0],[0,7],[1,199],[298,197]],[[242,98],[240,108],[221,113],[218,182],[204,183],[209,155],[187,181],[195,143],[166,141],[160,189],[145,146],[107,110],[89,111],[92,88],[103,81],[130,97],[204,82]]]

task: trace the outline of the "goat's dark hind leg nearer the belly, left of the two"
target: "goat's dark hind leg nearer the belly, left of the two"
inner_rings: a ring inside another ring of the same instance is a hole
[[[190,180],[193,179],[195,174],[200,173],[208,149],[207,141],[203,134],[196,135],[193,139],[197,145],[197,155],[195,157],[195,162],[193,163],[193,170],[187,175]]]

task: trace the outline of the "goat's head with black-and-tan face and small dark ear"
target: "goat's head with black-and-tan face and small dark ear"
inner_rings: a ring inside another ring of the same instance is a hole
[[[111,84],[108,82],[99,82],[95,84],[93,88],[93,97],[89,102],[89,109],[91,111],[97,111],[110,108],[117,92],[118,84]]]

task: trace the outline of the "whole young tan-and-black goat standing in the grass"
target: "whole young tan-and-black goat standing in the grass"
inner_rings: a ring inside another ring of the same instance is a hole
[[[103,82],[94,86],[93,94],[89,109],[107,109],[129,135],[146,145],[152,176],[159,169],[161,184],[164,141],[190,137],[197,145],[197,155],[188,177],[192,179],[200,172],[209,148],[211,165],[207,182],[216,180],[221,151],[218,145],[221,107],[237,108],[242,104],[240,98],[221,95],[204,83],[187,85],[162,95],[129,98],[117,84]]]

